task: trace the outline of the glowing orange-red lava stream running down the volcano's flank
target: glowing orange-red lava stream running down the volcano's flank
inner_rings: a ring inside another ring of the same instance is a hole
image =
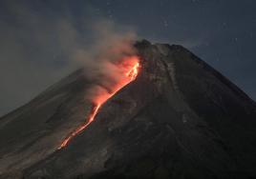
[[[70,140],[75,137],[78,133],[80,133],[83,129],[88,127],[95,119],[96,113],[98,109],[104,104],[109,98],[111,98],[119,89],[122,89],[124,86],[134,81],[139,73],[139,57],[132,56],[127,57],[122,60],[120,64],[117,64],[119,73],[121,76],[118,78],[117,84],[114,85],[111,89],[111,92],[107,92],[106,90],[99,92],[93,103],[95,104],[94,108],[91,110],[86,123],[82,124],[80,127],[75,129],[69,136],[67,136],[58,147],[58,149],[62,149],[67,146]]]

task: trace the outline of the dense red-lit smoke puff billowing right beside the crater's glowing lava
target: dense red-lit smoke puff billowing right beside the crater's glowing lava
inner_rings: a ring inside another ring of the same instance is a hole
[[[89,98],[96,103],[98,95],[113,92],[120,81],[126,81],[120,60],[135,56],[133,44],[137,39],[136,30],[117,26],[112,21],[99,20],[92,28],[93,43],[89,48],[75,50],[73,59],[84,68],[84,74],[92,82],[88,89]]]

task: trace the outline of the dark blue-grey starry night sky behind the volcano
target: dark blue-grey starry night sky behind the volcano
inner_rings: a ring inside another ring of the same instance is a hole
[[[102,19],[182,45],[256,100],[255,0],[1,0],[0,116],[74,71]]]

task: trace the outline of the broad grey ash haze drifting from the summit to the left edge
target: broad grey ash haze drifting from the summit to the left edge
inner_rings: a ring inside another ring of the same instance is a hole
[[[133,53],[133,28],[104,20],[89,5],[77,19],[68,1],[49,3],[0,2],[0,116],[81,66],[88,78],[115,81],[108,62]]]

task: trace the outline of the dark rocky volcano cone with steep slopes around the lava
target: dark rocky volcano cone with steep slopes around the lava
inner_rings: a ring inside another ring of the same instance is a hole
[[[0,119],[1,178],[255,178],[256,104],[181,46],[135,44],[139,73],[95,107],[77,70]]]

